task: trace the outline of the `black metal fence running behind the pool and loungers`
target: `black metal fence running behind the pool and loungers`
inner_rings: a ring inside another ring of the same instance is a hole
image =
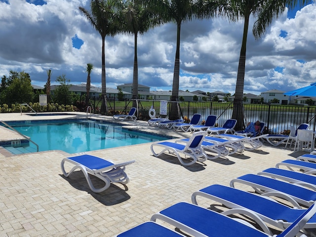
[[[58,101],[59,103],[56,103]],[[86,112],[87,106],[91,107],[91,112],[99,114],[101,109],[100,97],[90,97],[86,104],[86,96],[70,95],[62,98],[51,96],[48,106],[40,106],[39,100],[33,97],[29,102],[34,104],[33,109],[37,112],[65,112],[65,111],[81,111]],[[157,100],[125,100],[116,101],[114,99],[107,100],[107,115],[127,114],[133,107],[137,107],[136,116],[139,120],[150,119],[149,111],[155,109],[156,117],[160,116],[160,101]],[[206,120],[208,115],[216,115],[216,123],[221,126],[224,122],[232,118],[233,103],[220,102],[171,102],[167,101],[167,115],[170,114],[171,103],[178,103],[179,118],[189,120],[194,114],[201,114],[202,119]],[[20,112],[19,104],[5,105],[3,109],[0,105],[1,113]],[[308,123],[310,129],[316,130],[316,107],[314,106],[293,106],[293,105],[275,105],[275,104],[244,104],[244,124],[260,120],[265,122],[267,132],[269,133],[287,133],[290,126],[297,127],[300,123]],[[26,108],[27,109],[27,108]]]

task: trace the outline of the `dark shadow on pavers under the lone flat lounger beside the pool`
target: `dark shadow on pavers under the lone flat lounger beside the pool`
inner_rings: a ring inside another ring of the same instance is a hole
[[[130,196],[126,193],[126,191],[128,191],[127,186],[119,184],[119,183],[118,184],[111,183],[110,187],[106,189],[105,191],[101,193],[93,193],[91,189],[89,188],[87,180],[85,179],[82,171],[80,170],[73,172],[68,178],[66,178],[62,174],[60,174],[60,176],[63,179],[67,180],[69,184],[73,186],[75,189],[87,192],[96,200],[98,200],[99,202],[101,202],[102,204],[106,206],[115,205],[123,201],[126,201],[130,198]],[[104,186],[104,182],[98,179],[97,177],[90,175],[90,179],[95,188],[101,188]],[[122,186],[123,189],[120,188],[119,186]]]

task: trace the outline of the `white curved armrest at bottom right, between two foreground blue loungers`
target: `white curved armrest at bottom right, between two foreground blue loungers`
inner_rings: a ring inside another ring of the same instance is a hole
[[[254,212],[252,211],[248,211],[246,209],[241,209],[241,208],[233,208],[233,209],[229,209],[226,211],[222,212],[223,215],[234,215],[234,214],[241,214],[241,215],[246,215],[248,217],[250,217],[255,223],[257,223],[261,229],[263,230],[264,233],[268,234],[269,236],[273,236],[272,232],[270,231],[270,229],[268,228],[268,226],[264,223],[264,221]],[[243,224],[246,224],[247,226],[256,229],[253,225],[251,225],[249,222],[246,222],[242,219],[237,219],[237,218],[233,218],[236,221],[239,221]]]

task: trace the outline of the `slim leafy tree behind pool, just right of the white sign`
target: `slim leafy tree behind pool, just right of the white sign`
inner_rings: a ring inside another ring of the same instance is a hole
[[[68,104],[68,96],[70,95],[70,87],[72,84],[70,83],[70,80],[66,78],[66,75],[58,76],[56,79],[57,82],[59,82],[59,85],[56,86],[56,89],[54,90],[55,94],[55,102],[59,105],[67,105]]]

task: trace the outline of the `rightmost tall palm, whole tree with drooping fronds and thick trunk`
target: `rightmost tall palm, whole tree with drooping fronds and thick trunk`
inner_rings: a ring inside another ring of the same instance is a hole
[[[246,44],[251,15],[256,19],[252,28],[256,40],[264,35],[266,29],[285,10],[294,8],[297,4],[303,5],[309,0],[231,0],[227,2],[227,14],[232,20],[244,19],[243,35],[237,70],[236,91],[232,118],[237,119],[236,129],[244,127],[243,114],[243,86],[246,62]]]

